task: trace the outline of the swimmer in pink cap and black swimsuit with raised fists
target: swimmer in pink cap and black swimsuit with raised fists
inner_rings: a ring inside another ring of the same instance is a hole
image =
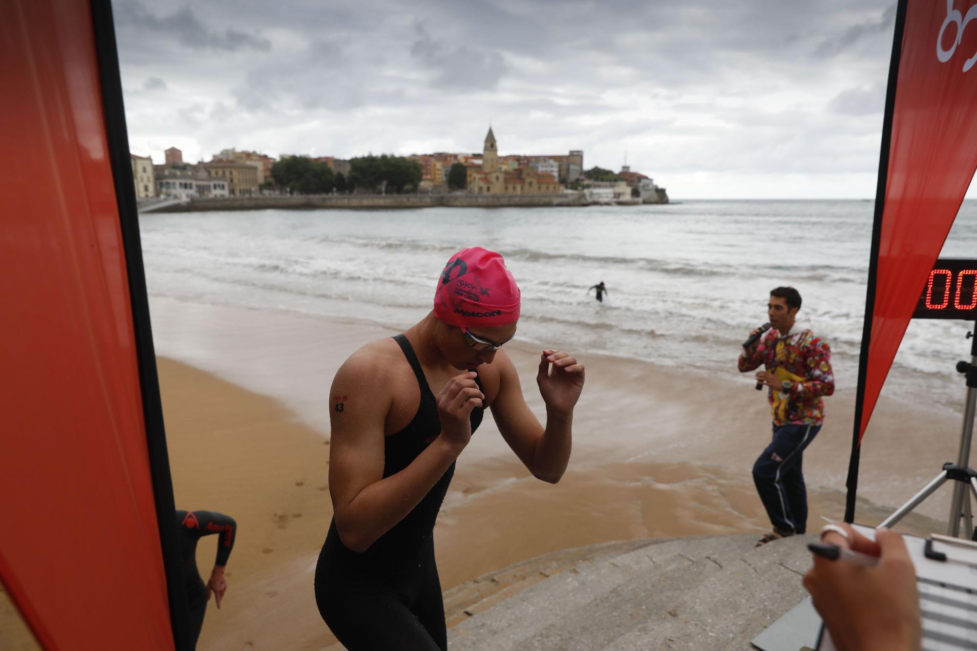
[[[366,344],[336,372],[334,517],[316,568],[316,602],[350,651],[447,648],[434,524],[455,459],[486,407],[535,477],[555,484],[567,469],[583,366],[565,352],[541,352],[544,428],[500,349],[516,333],[519,310],[502,256],[461,250],[438,280],[432,313]]]

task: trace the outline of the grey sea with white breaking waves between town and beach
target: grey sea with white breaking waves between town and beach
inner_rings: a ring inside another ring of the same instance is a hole
[[[392,328],[431,308],[453,252],[484,246],[522,289],[517,338],[729,377],[770,289],[792,285],[799,318],[831,347],[838,389],[852,390],[872,211],[868,200],[713,200],[149,213],[140,226],[151,295]],[[964,202],[942,255],[977,257],[977,204]],[[588,293],[598,282],[603,303]],[[883,394],[961,410],[967,329],[913,321]]]

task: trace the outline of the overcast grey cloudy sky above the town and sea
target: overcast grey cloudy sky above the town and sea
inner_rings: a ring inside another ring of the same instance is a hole
[[[583,150],[673,198],[872,197],[894,0],[116,0],[133,152]]]

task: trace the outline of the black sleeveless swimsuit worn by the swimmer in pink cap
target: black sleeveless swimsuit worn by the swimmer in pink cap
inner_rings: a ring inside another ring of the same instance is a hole
[[[438,405],[417,356],[403,334],[394,339],[414,370],[421,399],[407,426],[384,441],[384,477],[407,467],[441,433]],[[472,410],[473,433],[483,412]],[[451,463],[413,510],[362,553],[339,540],[333,518],[316,567],[316,603],[322,619],[349,651],[446,650],[434,523],[453,474]]]

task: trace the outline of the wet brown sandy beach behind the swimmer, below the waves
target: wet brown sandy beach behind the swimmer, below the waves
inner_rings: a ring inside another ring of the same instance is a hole
[[[315,396],[326,395],[350,352],[397,328],[178,301],[153,310],[177,505],[229,513],[239,526],[228,595],[220,611],[208,609],[199,648],[332,645],[312,583],[331,517],[328,421]],[[573,350],[569,343],[553,345]],[[506,348],[541,416],[531,380],[537,347]],[[490,417],[459,458],[435,530],[444,589],[580,545],[768,529],[749,468],[769,413],[751,380],[579,357],[587,383],[563,481],[534,480]],[[811,528],[842,515],[851,419],[850,392],[828,399],[828,423],[804,462]],[[864,446],[859,520],[877,523],[956,457],[958,428],[955,414],[883,396]],[[943,519],[948,500],[921,513]],[[934,526],[920,516],[905,522],[908,532]],[[213,555],[202,541],[201,572]]]

